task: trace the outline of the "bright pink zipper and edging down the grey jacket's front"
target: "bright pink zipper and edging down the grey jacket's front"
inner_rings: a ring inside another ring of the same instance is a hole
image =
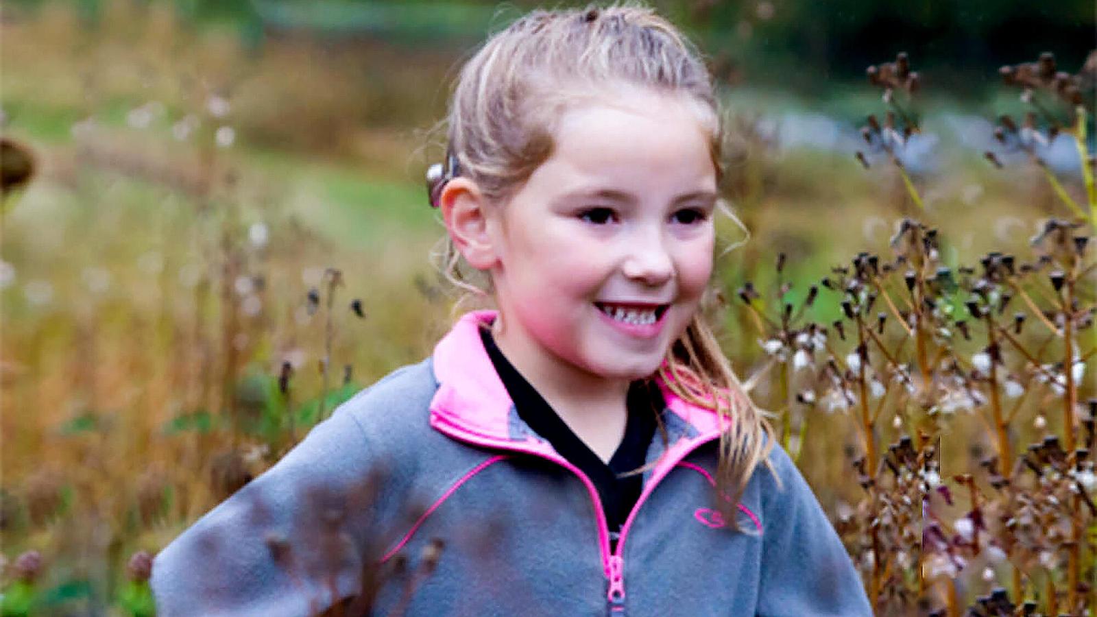
[[[454,437],[456,439],[474,444],[476,446],[488,446],[494,448],[502,448],[507,450],[513,450],[518,452],[524,452],[528,455],[535,455],[541,458],[551,460],[566,468],[572,473],[579,476],[583,484],[587,487],[587,492],[590,493],[590,498],[595,504],[596,523],[598,524],[598,546],[602,557],[602,569],[606,573],[606,577],[609,580],[609,586],[606,592],[606,599],[609,603],[610,614],[621,615],[624,613],[624,540],[629,535],[629,530],[632,528],[633,521],[636,519],[636,513],[640,511],[640,506],[647,501],[647,496],[652,494],[655,490],[655,485],[663,480],[671,469],[678,464],[678,461],[689,456],[690,452],[695,450],[703,444],[706,444],[716,437],[717,435],[706,436],[703,438],[694,439],[691,442],[683,445],[679,450],[679,453],[664,461],[661,468],[657,468],[652,474],[652,479],[648,481],[647,485],[644,487],[644,492],[641,493],[640,498],[636,500],[636,504],[632,506],[632,511],[629,513],[629,517],[625,518],[624,525],[621,527],[621,535],[618,538],[617,550],[612,553],[610,552],[610,530],[609,525],[606,523],[606,512],[602,509],[602,500],[598,495],[598,489],[595,483],[590,481],[585,473],[583,473],[579,468],[575,467],[567,459],[556,455],[551,450],[542,450],[538,448],[523,447],[521,444],[517,444],[510,440],[501,440],[495,437],[489,437],[486,435],[479,435],[473,433],[455,423],[445,418],[441,414],[431,414],[430,418],[431,425],[445,433],[446,435]]]

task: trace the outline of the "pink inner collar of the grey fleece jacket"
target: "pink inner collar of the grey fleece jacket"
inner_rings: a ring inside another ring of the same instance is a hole
[[[510,408],[513,403],[491,363],[477,329],[490,324],[497,311],[465,313],[434,347],[434,379],[439,389],[430,402],[431,424],[456,426],[482,437],[511,441]],[[667,407],[690,424],[699,438],[720,434],[715,412],[693,405],[656,379]]]

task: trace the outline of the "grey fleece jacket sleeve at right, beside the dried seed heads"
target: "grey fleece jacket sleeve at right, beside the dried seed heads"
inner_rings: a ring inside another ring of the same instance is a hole
[[[764,475],[758,615],[871,616],[860,575],[803,475],[778,445]]]

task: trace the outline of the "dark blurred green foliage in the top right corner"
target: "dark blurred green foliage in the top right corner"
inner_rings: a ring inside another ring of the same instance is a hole
[[[1040,52],[1055,53],[1073,71],[1094,46],[1097,13],[1088,0],[711,4],[706,12],[693,11],[691,20],[705,48],[731,51],[751,83],[813,90],[860,79],[869,64],[901,51],[939,83],[968,92],[994,85],[993,69],[999,65]]]

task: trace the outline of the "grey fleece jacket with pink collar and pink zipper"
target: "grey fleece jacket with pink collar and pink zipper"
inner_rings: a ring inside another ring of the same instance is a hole
[[[611,552],[595,485],[519,418],[484,350],[494,318],[466,314],[165,548],[159,614],[871,615],[780,447],[782,486],[759,467],[730,528],[717,418],[661,382],[667,439]]]

